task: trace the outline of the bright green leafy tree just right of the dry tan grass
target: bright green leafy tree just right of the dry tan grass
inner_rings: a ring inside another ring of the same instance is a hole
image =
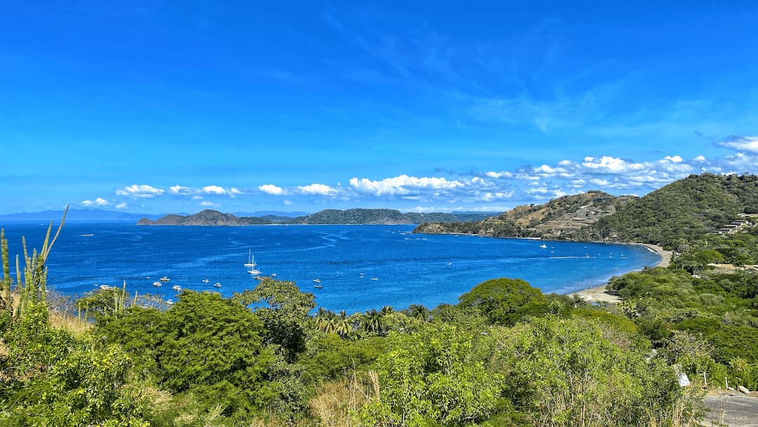
[[[486,419],[499,401],[501,378],[475,359],[471,335],[428,325],[390,333],[377,361],[381,399],[361,410],[362,425],[464,425]]]

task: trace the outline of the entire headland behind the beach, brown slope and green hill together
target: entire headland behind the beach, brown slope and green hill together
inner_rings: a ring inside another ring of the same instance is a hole
[[[690,175],[646,196],[599,191],[517,206],[479,222],[421,224],[418,233],[673,244],[758,212],[756,175]]]

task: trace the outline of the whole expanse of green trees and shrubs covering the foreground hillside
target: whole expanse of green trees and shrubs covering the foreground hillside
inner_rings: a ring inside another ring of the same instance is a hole
[[[754,263],[755,239],[681,242],[670,268],[614,278],[615,306],[498,278],[456,305],[352,315],[271,278],[56,312],[55,237],[17,283],[0,239],[0,425],[694,425],[706,381],[758,387],[758,275],[709,265]]]

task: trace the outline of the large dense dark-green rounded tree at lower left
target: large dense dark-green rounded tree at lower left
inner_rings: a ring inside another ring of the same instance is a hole
[[[240,303],[185,290],[167,312],[135,308],[99,329],[124,345],[138,370],[174,394],[192,394],[224,416],[249,416],[277,398],[268,380],[274,354],[262,342],[263,323]]]

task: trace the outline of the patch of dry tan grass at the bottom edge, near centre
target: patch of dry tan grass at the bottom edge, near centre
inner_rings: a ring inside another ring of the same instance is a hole
[[[328,382],[316,388],[309,400],[313,416],[326,427],[354,427],[353,418],[365,403],[379,399],[379,378],[376,372],[352,372],[342,381]]]

